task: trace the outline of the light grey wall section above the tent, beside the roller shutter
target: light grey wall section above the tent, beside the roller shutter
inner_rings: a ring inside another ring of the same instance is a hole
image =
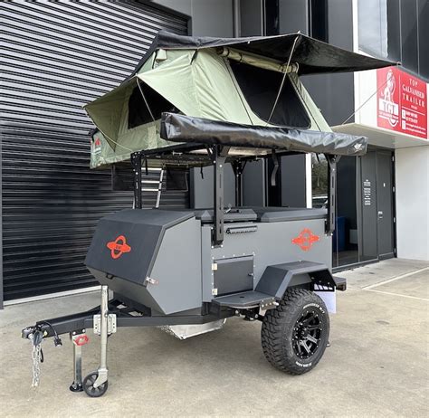
[[[191,16],[195,36],[233,36],[233,0],[154,0]]]

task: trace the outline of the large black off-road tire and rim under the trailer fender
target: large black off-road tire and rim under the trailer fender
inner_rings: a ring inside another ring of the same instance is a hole
[[[262,322],[262,350],[272,366],[291,375],[309,372],[329,341],[325,303],[310,290],[286,290],[280,305]]]

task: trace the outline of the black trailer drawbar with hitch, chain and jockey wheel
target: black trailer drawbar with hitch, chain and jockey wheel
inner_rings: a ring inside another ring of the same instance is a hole
[[[119,327],[162,327],[173,325],[201,325],[218,319],[231,318],[243,314],[246,318],[260,319],[254,309],[223,309],[210,304],[203,307],[200,315],[152,315],[146,307],[127,307],[119,299],[109,300],[108,286],[100,287],[100,306],[63,317],[38,321],[31,327],[22,330],[22,337],[32,342],[33,352],[38,349],[44,338],[53,337],[55,346],[61,346],[59,336],[69,334],[73,343],[73,382],[71,392],[85,391],[91,397],[99,397],[108,388],[109,369],[107,366],[108,337],[116,333]],[[259,310],[259,309],[258,309]],[[82,347],[89,342],[87,330],[93,328],[94,334],[100,336],[100,366],[82,379]],[[37,362],[37,365],[34,365]],[[33,386],[39,385],[40,363],[43,355],[35,359],[33,356]],[[34,375],[34,371],[39,373]]]

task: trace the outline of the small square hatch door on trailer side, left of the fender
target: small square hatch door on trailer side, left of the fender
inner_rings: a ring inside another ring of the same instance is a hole
[[[253,290],[253,255],[214,261],[215,296]]]

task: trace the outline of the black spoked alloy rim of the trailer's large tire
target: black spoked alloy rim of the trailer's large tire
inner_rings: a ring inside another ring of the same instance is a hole
[[[295,355],[301,359],[314,356],[319,349],[322,333],[319,313],[313,309],[304,311],[293,328],[292,346]]]

